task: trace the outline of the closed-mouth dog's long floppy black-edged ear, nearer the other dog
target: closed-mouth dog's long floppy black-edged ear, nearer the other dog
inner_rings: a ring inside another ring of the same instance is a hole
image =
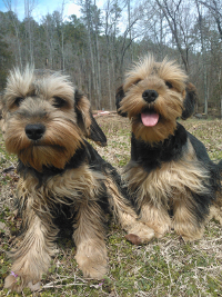
[[[92,116],[90,101],[78,90],[74,92],[74,109],[79,128],[87,138],[101,147],[107,146],[107,137]]]

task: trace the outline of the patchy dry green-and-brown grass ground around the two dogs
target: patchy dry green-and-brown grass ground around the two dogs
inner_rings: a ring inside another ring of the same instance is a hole
[[[130,158],[130,125],[115,116],[97,120],[109,143],[97,149],[121,172]],[[191,119],[182,125],[204,142],[213,160],[222,159],[222,121]],[[1,170],[16,167],[1,137],[0,165]],[[102,281],[82,277],[74,260],[75,247],[69,237],[62,237],[41,290],[31,294],[24,289],[22,295],[3,290],[3,278],[11,266],[6,251],[13,245],[20,225],[13,212],[17,179],[13,169],[0,177],[0,296],[222,296],[222,228],[216,221],[208,224],[199,241],[185,244],[172,231],[145,246],[132,246],[111,222],[107,238],[109,274]]]

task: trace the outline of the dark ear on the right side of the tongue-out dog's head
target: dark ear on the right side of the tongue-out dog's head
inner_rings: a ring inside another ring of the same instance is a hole
[[[183,112],[181,116],[183,120],[190,118],[193,115],[196,101],[196,89],[193,83],[188,82],[185,87],[185,99],[183,101]]]

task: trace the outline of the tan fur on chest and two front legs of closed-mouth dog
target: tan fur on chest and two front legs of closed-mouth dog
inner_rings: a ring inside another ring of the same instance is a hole
[[[26,204],[27,206],[27,211],[22,214],[22,219],[28,230],[26,237],[22,238],[22,245],[12,254],[14,260],[12,271],[19,275],[21,287],[17,287],[14,277],[9,276],[6,279],[6,288],[11,287],[12,289],[20,290],[31,280],[33,285],[40,281],[42,274],[47,273],[50,258],[54,254],[53,240],[58,232],[52,224],[52,217],[50,217],[53,212],[50,210],[57,204],[70,205],[73,210],[79,210],[80,215],[77,218],[75,225],[80,226],[78,231],[74,231],[73,238],[77,240],[78,247],[77,260],[78,263],[80,261],[79,265],[84,275],[98,278],[101,273],[103,273],[102,275],[105,274],[107,251],[103,242],[104,231],[100,222],[101,214],[95,199],[100,190],[101,179],[102,175],[94,175],[87,165],[74,170],[67,170],[62,176],[54,176],[48,179],[47,184],[41,187],[38,186],[38,179],[32,176],[28,176],[26,179],[20,178],[18,197],[20,197],[20,204]],[[79,195],[80,191],[82,192],[81,196]],[[71,200],[68,201],[65,197],[71,198]],[[42,224],[42,220],[44,224]],[[87,225],[84,226],[84,224]],[[87,238],[88,242],[84,241]],[[95,251],[95,246],[98,251]],[[85,250],[89,250],[88,255]],[[88,259],[88,256],[92,258]],[[36,261],[33,261],[34,259]],[[82,264],[83,259],[85,260],[84,265]],[[91,264],[92,261],[99,263],[100,259],[101,265],[99,265],[98,269],[100,273],[97,273],[94,270],[95,264],[93,264],[93,267],[91,267]]]

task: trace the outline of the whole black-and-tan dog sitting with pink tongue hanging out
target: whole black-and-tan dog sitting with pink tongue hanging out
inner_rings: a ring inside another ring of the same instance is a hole
[[[135,63],[117,91],[118,112],[132,123],[123,179],[141,220],[158,238],[173,228],[195,240],[209,218],[222,222],[222,161],[212,162],[203,143],[176,121],[193,113],[195,98],[175,62],[152,56]]]

